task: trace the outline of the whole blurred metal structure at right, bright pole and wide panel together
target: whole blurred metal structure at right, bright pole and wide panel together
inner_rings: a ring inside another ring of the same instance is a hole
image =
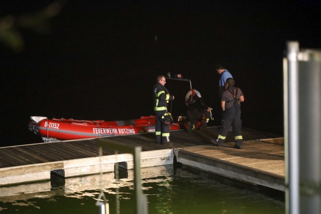
[[[321,213],[321,50],[287,43],[284,60],[286,213]]]

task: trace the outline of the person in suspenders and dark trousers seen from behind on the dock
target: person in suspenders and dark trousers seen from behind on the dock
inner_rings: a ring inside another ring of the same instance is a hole
[[[241,102],[244,102],[244,95],[240,88],[234,86],[234,79],[227,78],[225,90],[222,93],[221,107],[223,110],[221,126],[217,139],[212,139],[214,145],[223,144],[229,128],[232,125],[235,139],[235,148],[242,148],[242,121],[241,121]]]

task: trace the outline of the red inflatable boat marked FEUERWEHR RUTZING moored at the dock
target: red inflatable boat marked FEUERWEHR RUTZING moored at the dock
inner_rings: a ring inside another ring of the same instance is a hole
[[[170,129],[178,130],[180,125],[172,123]],[[41,136],[45,142],[130,135],[155,132],[155,116],[119,121],[48,119],[31,116],[29,130]]]

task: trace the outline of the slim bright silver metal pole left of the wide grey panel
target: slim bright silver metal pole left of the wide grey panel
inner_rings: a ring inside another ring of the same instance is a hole
[[[298,42],[287,42],[287,65],[284,85],[284,139],[286,144],[286,208],[287,214],[299,214],[299,101],[298,101]]]

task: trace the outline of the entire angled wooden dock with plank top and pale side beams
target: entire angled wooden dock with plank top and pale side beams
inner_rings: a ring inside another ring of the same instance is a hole
[[[243,128],[244,146],[214,146],[210,140],[219,127],[206,132],[171,132],[171,143],[155,143],[154,133],[115,136],[113,142],[141,146],[141,167],[173,164],[174,161],[240,181],[284,191],[283,138]],[[53,173],[65,178],[113,172],[114,163],[132,169],[131,154],[103,149],[98,138],[0,147],[0,186],[50,180]],[[233,142],[230,132],[225,142]]]

